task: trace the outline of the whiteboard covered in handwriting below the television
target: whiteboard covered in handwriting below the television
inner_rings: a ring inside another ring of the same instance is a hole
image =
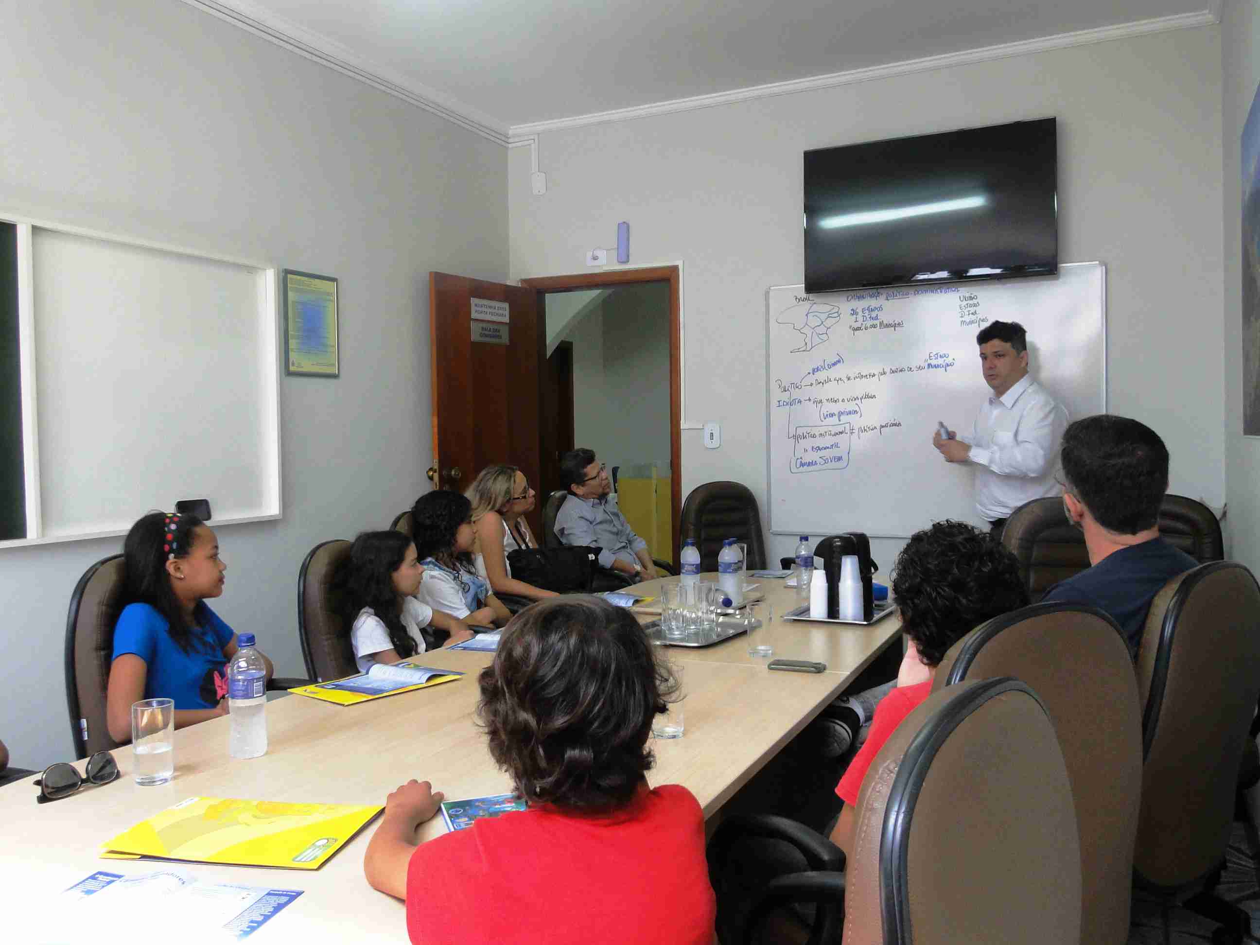
[[[973,466],[932,447],[970,431],[989,394],[976,333],[1028,330],[1028,365],[1068,418],[1106,410],[1105,270],[806,295],[766,291],[770,530],[907,537],[944,518],[983,524]]]

